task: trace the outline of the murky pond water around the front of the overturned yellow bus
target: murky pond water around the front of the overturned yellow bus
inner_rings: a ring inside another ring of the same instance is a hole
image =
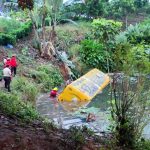
[[[68,129],[70,126],[83,126],[93,129],[95,133],[109,132],[110,114],[108,111],[108,100],[110,98],[109,87],[95,97],[90,104],[84,108],[64,109],[63,105],[58,103],[55,99],[50,99],[48,94],[41,95],[36,103],[38,112],[55,122],[58,126]],[[74,104],[73,104],[74,105]],[[72,107],[68,104],[68,108]],[[66,108],[66,107],[65,107]],[[94,113],[96,121],[86,122],[88,113]],[[150,139],[150,124],[144,128],[143,136]]]

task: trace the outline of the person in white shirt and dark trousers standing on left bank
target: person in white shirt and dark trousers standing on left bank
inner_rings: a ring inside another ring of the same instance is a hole
[[[3,69],[5,88],[8,89],[8,92],[10,92],[10,82],[11,82],[11,70],[9,67],[10,67],[9,65],[6,65],[6,67]]]

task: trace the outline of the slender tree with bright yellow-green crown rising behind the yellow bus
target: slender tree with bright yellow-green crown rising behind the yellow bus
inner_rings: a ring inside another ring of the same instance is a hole
[[[94,39],[100,43],[103,43],[105,47],[105,60],[107,60],[107,71],[109,72],[113,66],[111,58],[113,40],[115,35],[117,35],[121,30],[122,23],[102,18],[93,20],[92,27],[92,34]]]

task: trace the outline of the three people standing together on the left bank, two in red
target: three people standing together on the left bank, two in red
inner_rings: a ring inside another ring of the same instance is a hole
[[[5,56],[3,65],[3,79],[5,82],[5,88],[8,90],[8,92],[10,92],[10,82],[12,80],[12,77],[16,75],[17,71],[16,55],[13,54],[11,58]]]

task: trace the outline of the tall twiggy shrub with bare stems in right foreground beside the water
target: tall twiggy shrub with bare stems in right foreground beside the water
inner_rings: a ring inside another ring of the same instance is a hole
[[[130,77],[114,75],[111,85],[112,130],[116,143],[126,148],[135,148],[149,122],[149,83],[144,83],[143,77],[134,78],[136,83]]]

